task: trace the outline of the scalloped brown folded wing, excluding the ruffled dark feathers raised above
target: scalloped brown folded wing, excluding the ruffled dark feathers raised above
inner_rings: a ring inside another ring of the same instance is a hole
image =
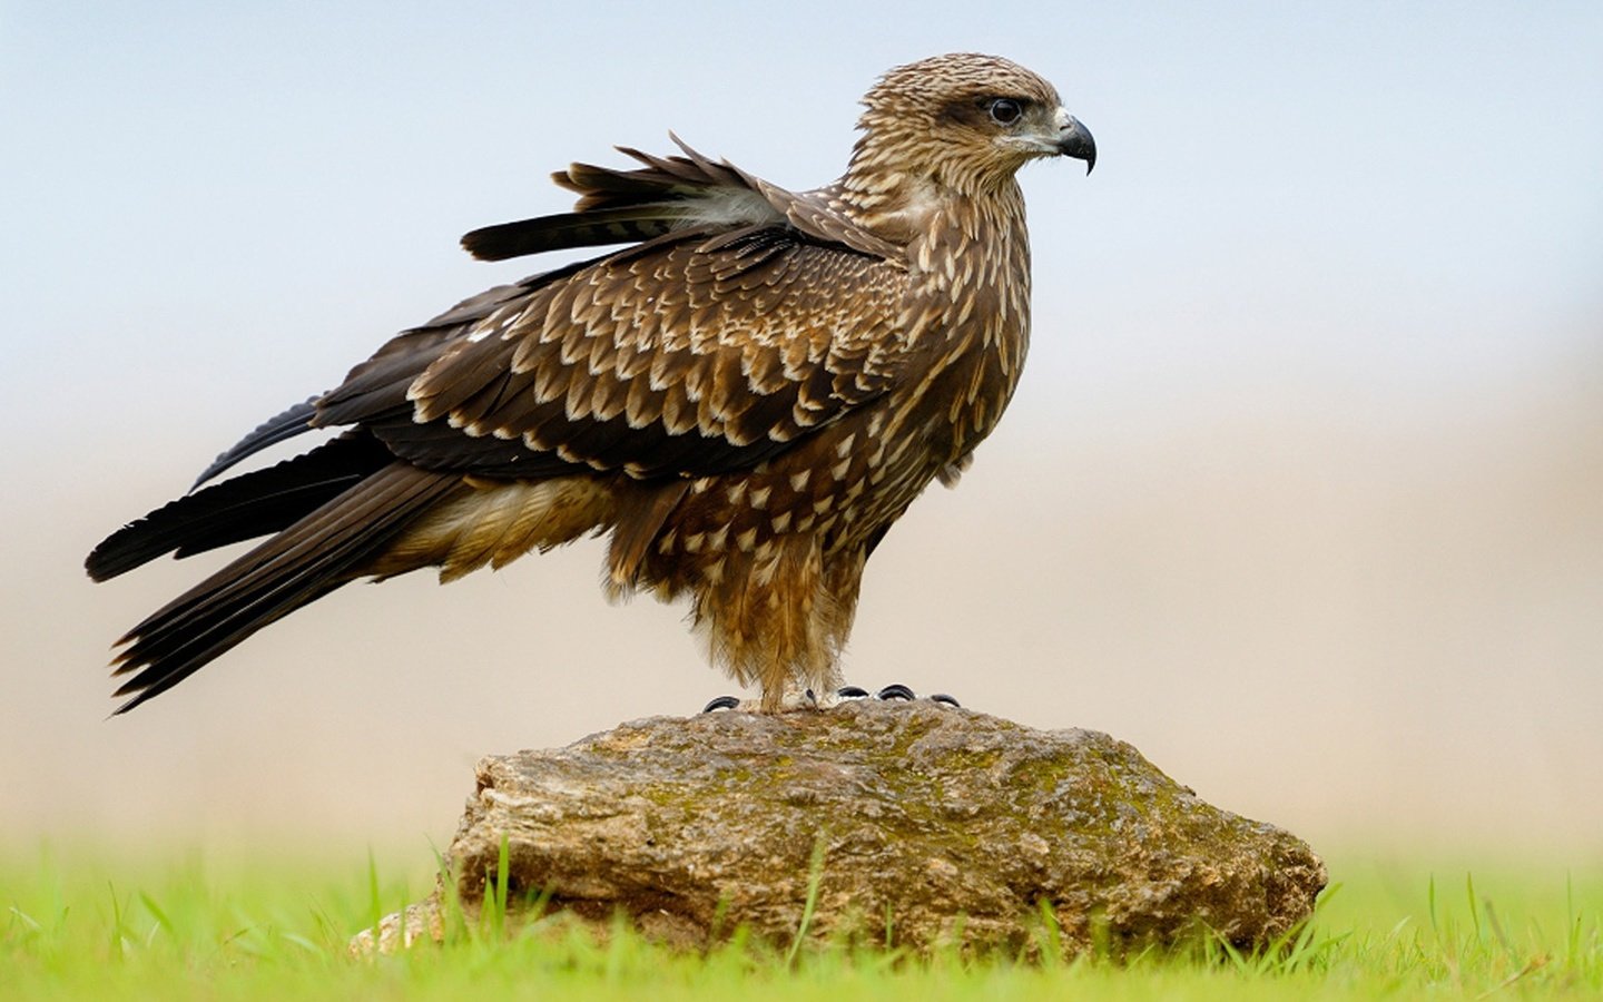
[[[744,468],[894,383],[912,358],[906,282],[899,261],[784,223],[676,229],[449,338],[396,338],[317,401],[316,423],[487,476]]]

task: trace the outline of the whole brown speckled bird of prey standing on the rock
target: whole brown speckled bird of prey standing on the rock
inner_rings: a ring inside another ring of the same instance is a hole
[[[95,580],[266,537],[133,627],[127,712],[357,579],[441,580],[609,534],[606,588],[688,596],[763,710],[832,693],[864,563],[997,425],[1029,343],[1015,173],[1096,147],[1039,75],[947,55],[864,96],[845,175],[792,192],[620,147],[574,212],[478,229],[503,260],[612,247],[404,330],[90,553]],[[624,247],[616,247],[622,244]],[[311,428],[337,438],[204,486]]]

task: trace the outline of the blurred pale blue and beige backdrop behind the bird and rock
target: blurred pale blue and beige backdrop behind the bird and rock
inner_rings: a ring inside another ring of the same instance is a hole
[[[1036,338],[848,653],[1140,747],[1330,845],[1603,858],[1603,6],[0,5],[0,842],[450,838],[473,762],[729,691],[601,547],[353,585],[139,712],[107,644],[220,563],[103,535],[385,337],[548,266],[476,226],[673,128],[835,178],[952,50],[1053,80]]]

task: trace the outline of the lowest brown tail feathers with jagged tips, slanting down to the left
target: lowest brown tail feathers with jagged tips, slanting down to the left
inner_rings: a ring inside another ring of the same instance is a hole
[[[393,463],[146,617],[119,644],[117,689],[133,707],[165,693],[256,630],[367,574],[414,518],[460,489],[450,475]]]

